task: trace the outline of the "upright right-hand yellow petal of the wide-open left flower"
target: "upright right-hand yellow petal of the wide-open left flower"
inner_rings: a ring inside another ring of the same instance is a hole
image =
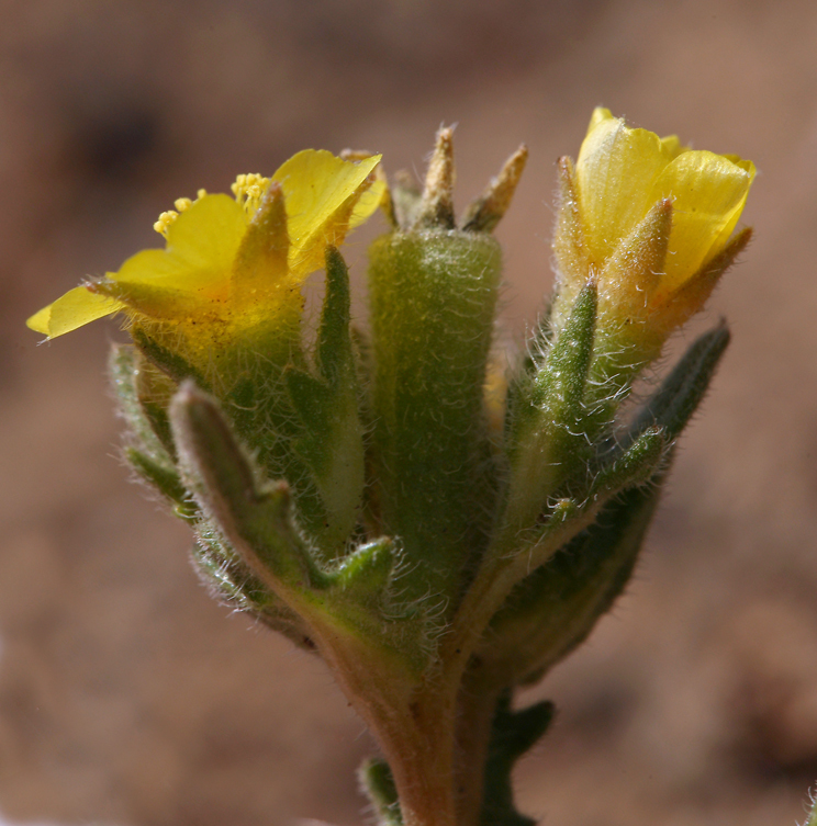
[[[360,201],[379,161],[379,155],[354,163],[325,150],[305,149],[272,176],[283,189],[293,272],[305,276],[320,269],[326,245],[339,245],[352,219],[360,223],[377,210],[379,197]]]

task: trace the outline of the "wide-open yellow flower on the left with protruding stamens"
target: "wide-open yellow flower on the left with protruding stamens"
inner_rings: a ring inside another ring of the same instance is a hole
[[[155,224],[167,245],[128,258],[117,272],[66,293],[27,320],[48,338],[102,316],[168,333],[186,355],[299,317],[300,286],[327,245],[377,210],[380,156],[350,162],[307,149],[271,179],[239,176],[234,197],[199,191]]]

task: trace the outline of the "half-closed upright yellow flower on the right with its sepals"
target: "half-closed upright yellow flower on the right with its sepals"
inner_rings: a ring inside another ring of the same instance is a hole
[[[556,326],[594,279],[601,319],[662,342],[703,307],[748,242],[749,230],[731,236],[754,165],[689,149],[596,109],[575,168],[569,158],[559,166],[553,250],[568,301],[557,303]]]

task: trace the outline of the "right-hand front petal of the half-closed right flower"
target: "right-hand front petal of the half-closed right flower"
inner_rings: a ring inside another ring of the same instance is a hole
[[[686,151],[658,177],[650,200],[673,199],[673,223],[662,288],[692,278],[725,246],[743,211],[754,178],[750,161]]]

